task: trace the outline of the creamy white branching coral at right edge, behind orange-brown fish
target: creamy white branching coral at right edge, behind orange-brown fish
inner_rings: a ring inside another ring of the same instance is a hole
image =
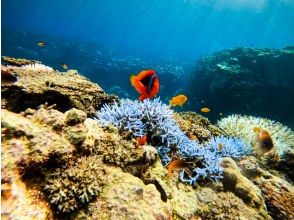
[[[247,146],[255,140],[254,127],[268,131],[280,156],[294,145],[294,132],[290,128],[266,118],[231,115],[222,118],[217,124],[228,135],[243,139]]]

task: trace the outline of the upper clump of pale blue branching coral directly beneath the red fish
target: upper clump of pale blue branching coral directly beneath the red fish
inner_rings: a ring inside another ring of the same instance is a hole
[[[112,124],[121,131],[132,132],[135,137],[148,134],[160,145],[176,145],[180,141],[178,137],[184,135],[173,119],[173,111],[159,98],[143,102],[122,100],[111,107],[104,105],[97,112],[97,119],[102,125]]]

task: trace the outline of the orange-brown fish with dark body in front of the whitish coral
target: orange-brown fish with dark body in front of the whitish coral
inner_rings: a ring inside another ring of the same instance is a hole
[[[268,131],[262,130],[259,127],[254,127],[253,131],[256,133],[256,141],[259,144],[259,149],[262,153],[269,152],[274,143]]]

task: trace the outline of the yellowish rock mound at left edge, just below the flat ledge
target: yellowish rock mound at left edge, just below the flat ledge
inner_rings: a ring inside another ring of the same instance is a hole
[[[21,174],[32,174],[48,163],[66,163],[75,151],[50,128],[19,114],[2,109],[1,123],[2,179],[9,178],[16,166]]]

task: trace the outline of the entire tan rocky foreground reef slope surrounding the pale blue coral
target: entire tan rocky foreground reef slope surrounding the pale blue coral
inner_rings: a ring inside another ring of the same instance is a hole
[[[292,218],[292,183],[280,171],[269,172],[254,156],[236,159],[234,155],[243,154],[228,146],[239,146],[238,142],[221,136],[223,131],[207,119],[195,113],[161,113],[167,114],[168,119],[174,118],[171,124],[177,126],[181,138],[199,141],[205,149],[202,152],[208,154],[222,142],[222,155],[230,151],[227,156],[233,157],[223,159],[221,181],[203,179],[191,186],[180,181],[180,170],[173,175],[168,173],[156,146],[160,142],[155,141],[157,136],[153,142],[140,146],[134,136],[121,132],[124,129],[89,117],[114,97],[77,73],[60,74],[50,67],[37,67],[41,69],[39,75],[32,74],[32,66],[6,66],[18,81],[1,85],[2,92],[6,92],[1,109],[3,218]],[[45,72],[56,78],[58,86],[46,86]],[[28,88],[31,100],[20,91]],[[87,88],[100,93],[94,95]],[[76,98],[82,105],[61,103],[57,96],[52,99],[48,91],[62,94],[65,100]],[[16,103],[22,107],[13,108]],[[89,111],[88,106],[94,110]],[[149,125],[158,130],[160,123]],[[142,129],[145,131],[144,126]],[[164,129],[161,136],[165,135]],[[233,145],[226,145],[227,142]],[[184,143],[187,148],[182,152],[189,152],[189,143]]]

